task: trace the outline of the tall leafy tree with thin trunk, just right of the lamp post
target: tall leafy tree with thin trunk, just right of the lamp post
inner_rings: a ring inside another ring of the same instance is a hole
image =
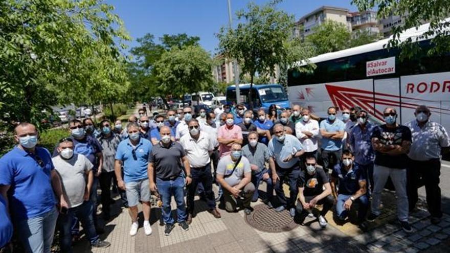
[[[237,59],[242,75],[250,75],[251,86],[256,73],[274,75],[275,65],[288,58],[285,42],[294,29],[294,16],[276,10],[275,4],[249,3],[247,10],[236,13],[239,23],[235,29],[222,27],[217,34],[219,53]],[[253,108],[252,103],[250,107]]]

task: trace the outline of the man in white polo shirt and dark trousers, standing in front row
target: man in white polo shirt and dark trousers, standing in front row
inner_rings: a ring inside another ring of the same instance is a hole
[[[213,177],[211,174],[210,153],[214,151],[214,142],[208,133],[200,131],[200,126],[196,119],[188,123],[189,134],[183,135],[179,144],[183,147],[191,166],[191,174],[186,175],[192,178],[188,186],[186,197],[188,218],[186,222],[191,224],[194,212],[195,190],[199,182],[203,185],[204,194],[208,204],[208,212],[215,218],[220,218],[220,213],[216,209],[216,201],[213,192]]]

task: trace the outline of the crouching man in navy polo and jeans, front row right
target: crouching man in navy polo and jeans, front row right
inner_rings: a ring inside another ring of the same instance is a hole
[[[358,203],[358,223],[364,221],[369,208],[366,173],[354,163],[354,159],[350,150],[344,150],[342,163],[336,164],[331,172],[331,192],[337,200],[336,218],[340,222],[345,220],[354,202]],[[339,186],[337,192],[336,185]]]

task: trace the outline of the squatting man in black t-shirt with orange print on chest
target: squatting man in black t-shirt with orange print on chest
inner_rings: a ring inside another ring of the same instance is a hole
[[[306,218],[308,213],[317,204],[322,204],[322,211],[318,217],[321,227],[328,223],[325,220],[325,214],[333,206],[333,197],[331,196],[331,186],[327,174],[322,168],[317,168],[316,157],[306,157],[306,170],[300,172],[297,182],[299,188],[299,199],[296,210],[300,214],[300,221]],[[325,188],[325,190],[323,190]]]

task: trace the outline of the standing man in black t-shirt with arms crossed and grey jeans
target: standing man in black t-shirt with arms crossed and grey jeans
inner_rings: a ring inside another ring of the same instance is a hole
[[[384,111],[386,124],[376,127],[372,133],[372,146],[375,150],[373,168],[372,213],[367,221],[373,222],[380,215],[381,191],[391,177],[397,196],[397,216],[404,232],[412,232],[408,222],[408,197],[406,191],[406,167],[411,146],[411,130],[396,123],[397,112],[387,107]]]

